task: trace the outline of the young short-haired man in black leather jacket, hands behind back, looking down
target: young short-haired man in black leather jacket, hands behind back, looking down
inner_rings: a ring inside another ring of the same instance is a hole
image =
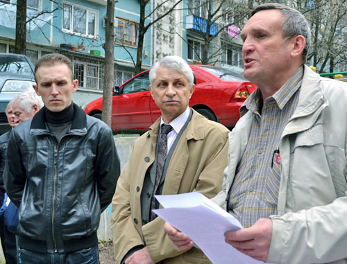
[[[119,177],[112,130],[72,103],[71,61],[44,55],[35,66],[44,107],[12,130],[3,175],[19,206],[19,263],[99,263],[100,213]]]

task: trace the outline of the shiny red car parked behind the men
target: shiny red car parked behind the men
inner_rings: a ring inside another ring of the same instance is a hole
[[[221,67],[190,65],[196,89],[189,106],[229,129],[239,120],[239,107],[256,88],[242,76]],[[161,114],[149,92],[149,70],[115,87],[112,96],[113,130],[148,130]],[[103,98],[85,107],[86,114],[101,118]]]

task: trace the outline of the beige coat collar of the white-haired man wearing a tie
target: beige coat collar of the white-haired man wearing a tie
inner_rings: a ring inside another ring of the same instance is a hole
[[[190,108],[192,109],[192,108]],[[194,109],[192,109],[192,120],[187,125],[187,139],[195,139],[195,140],[201,140],[205,138],[205,125],[208,123],[208,119],[205,118],[205,116],[202,116],[198,112],[196,112]],[[146,132],[146,137],[158,137],[159,133],[159,127],[160,127],[160,118],[149,127],[149,131]]]

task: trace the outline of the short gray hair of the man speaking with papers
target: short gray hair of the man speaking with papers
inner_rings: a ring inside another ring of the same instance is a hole
[[[285,40],[302,35],[306,39],[306,45],[303,50],[303,62],[307,61],[308,51],[311,46],[311,30],[310,26],[301,12],[288,6],[283,6],[280,3],[264,3],[254,8],[251,12],[251,17],[262,10],[280,10],[285,17],[282,20],[282,35]]]

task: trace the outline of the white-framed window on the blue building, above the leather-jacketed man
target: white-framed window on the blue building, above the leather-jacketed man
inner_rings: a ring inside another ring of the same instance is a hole
[[[69,28],[65,28],[65,6],[69,6]],[[74,31],[74,8],[79,8],[85,10],[85,33],[79,33]],[[94,35],[90,35],[89,32],[89,16],[90,13],[94,14]],[[71,35],[83,36],[96,39],[99,37],[99,10],[92,8],[86,8],[85,6],[77,5],[76,3],[71,3],[67,1],[62,2],[62,32],[69,33]]]

